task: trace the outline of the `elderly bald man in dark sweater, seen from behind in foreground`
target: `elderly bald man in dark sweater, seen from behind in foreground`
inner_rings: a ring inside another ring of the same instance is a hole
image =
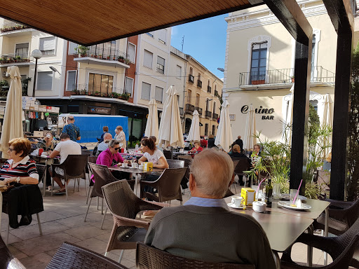
[[[205,149],[191,164],[191,198],[165,207],[149,226],[145,244],[177,256],[217,263],[245,263],[275,269],[262,227],[249,215],[231,212],[222,199],[233,182],[227,153]]]

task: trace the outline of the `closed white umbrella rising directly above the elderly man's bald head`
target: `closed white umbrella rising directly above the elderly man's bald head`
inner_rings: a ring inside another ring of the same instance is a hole
[[[229,102],[225,100],[222,104],[221,116],[219,117],[215,145],[222,146],[222,149],[228,152],[232,143],[233,137],[231,130],[231,120],[229,119]]]

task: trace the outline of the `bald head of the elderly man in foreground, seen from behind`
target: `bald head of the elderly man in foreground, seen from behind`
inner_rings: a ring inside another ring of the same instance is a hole
[[[226,152],[205,149],[191,164],[191,175],[196,188],[205,197],[223,198],[233,176],[233,161]]]

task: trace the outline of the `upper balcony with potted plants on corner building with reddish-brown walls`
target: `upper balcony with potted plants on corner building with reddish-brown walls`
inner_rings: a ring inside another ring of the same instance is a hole
[[[100,64],[120,65],[126,68],[128,68],[130,64],[127,53],[112,48],[101,48],[101,46],[98,45],[77,47],[74,51],[74,60],[79,62],[90,60]]]

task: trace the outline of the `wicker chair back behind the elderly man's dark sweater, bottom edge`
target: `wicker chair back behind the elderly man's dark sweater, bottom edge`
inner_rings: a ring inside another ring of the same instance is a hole
[[[136,265],[140,269],[255,269],[255,265],[210,263],[175,256],[168,252],[137,242]]]

